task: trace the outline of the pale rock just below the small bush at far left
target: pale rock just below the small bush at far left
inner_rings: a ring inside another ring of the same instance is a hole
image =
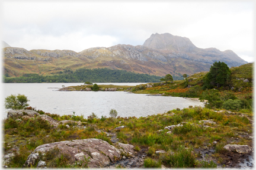
[[[7,118],[12,118],[12,119],[18,119],[22,116],[29,116],[29,117],[34,117],[39,116],[40,114],[37,113],[34,110],[28,110],[28,109],[23,109],[23,110],[9,110],[8,114],[7,114]]]

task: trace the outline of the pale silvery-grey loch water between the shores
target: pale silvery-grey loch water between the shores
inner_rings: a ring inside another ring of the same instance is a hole
[[[142,83],[97,83],[122,86],[135,86]],[[168,112],[168,110],[188,106],[204,106],[198,100],[171,96],[148,96],[126,91],[58,91],[59,88],[78,86],[82,83],[4,83],[2,92],[5,97],[11,94],[24,94],[31,107],[58,115],[84,115],[94,112],[98,117],[107,116],[116,109],[118,116],[148,116]],[[4,105],[4,104],[3,104]],[[3,107],[2,119],[7,117],[9,109]]]

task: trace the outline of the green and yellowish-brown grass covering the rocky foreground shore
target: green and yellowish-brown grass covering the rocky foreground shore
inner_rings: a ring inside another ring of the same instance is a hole
[[[40,112],[43,113],[43,111]],[[137,152],[140,152],[142,148],[150,147],[146,149],[148,159],[145,159],[144,166],[151,168],[161,165],[169,168],[214,168],[214,162],[197,162],[197,155],[193,153],[193,150],[203,148],[206,145],[210,147],[206,143],[217,141],[215,146],[211,146],[215,149],[216,154],[224,154],[226,150],[223,149],[223,146],[228,144],[231,138],[238,138],[234,144],[251,145],[251,140],[240,138],[237,135],[238,132],[252,133],[252,125],[248,119],[251,117],[247,114],[242,116],[240,112],[215,112],[213,109],[191,107],[182,110],[169,110],[163,114],[147,117],[116,117],[116,119],[94,117],[93,120],[91,118],[85,119],[83,116],[75,116],[75,114],[65,116],[45,114],[56,120],[79,120],[87,128],[82,129],[79,126],[71,125],[71,128],[66,129],[65,124],[54,128],[39,117],[21,119],[21,122],[5,119],[3,122],[4,152],[9,153],[14,145],[22,151],[12,159],[8,164],[9,167],[22,167],[30,152],[44,143],[97,138],[113,145],[105,132],[116,133],[119,142],[134,145]],[[203,123],[200,123],[200,120],[212,120],[216,124],[207,124],[211,128],[203,128]],[[186,123],[172,129],[170,134],[166,133],[168,130],[164,130],[165,126],[178,125],[181,122]],[[127,127],[113,130],[122,125]],[[104,129],[104,132],[97,132],[99,129]],[[158,130],[162,131],[158,132]],[[164,150],[167,153],[156,155],[155,151],[159,150]],[[48,161],[49,167],[78,167],[78,165],[71,165],[65,155],[58,155],[53,160],[52,163]]]

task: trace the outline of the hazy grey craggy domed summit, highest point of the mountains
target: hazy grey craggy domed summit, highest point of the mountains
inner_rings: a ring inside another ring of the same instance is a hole
[[[152,34],[143,44],[159,50],[193,51],[197,48],[187,37],[175,36],[169,33]]]

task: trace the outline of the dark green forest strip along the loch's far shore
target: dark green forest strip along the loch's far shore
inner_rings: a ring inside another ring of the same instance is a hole
[[[138,74],[126,70],[110,70],[108,68],[94,68],[92,70],[80,68],[66,69],[59,74],[41,76],[39,74],[23,74],[21,77],[4,76],[4,83],[81,83],[85,81],[100,83],[147,83],[159,82],[162,77]],[[177,79],[179,77],[174,77]]]

